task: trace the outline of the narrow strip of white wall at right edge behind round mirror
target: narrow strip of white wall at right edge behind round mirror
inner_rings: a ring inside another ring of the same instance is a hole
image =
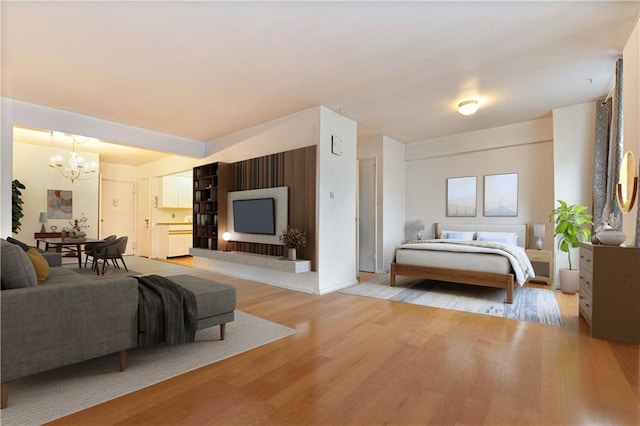
[[[633,152],[636,157],[636,173],[640,174],[640,20],[636,24],[623,51],[623,110],[624,110],[624,149]],[[636,200],[640,201],[640,200]],[[635,241],[636,216],[638,203],[631,212],[624,215],[623,232],[627,235],[626,244],[638,245]]]

